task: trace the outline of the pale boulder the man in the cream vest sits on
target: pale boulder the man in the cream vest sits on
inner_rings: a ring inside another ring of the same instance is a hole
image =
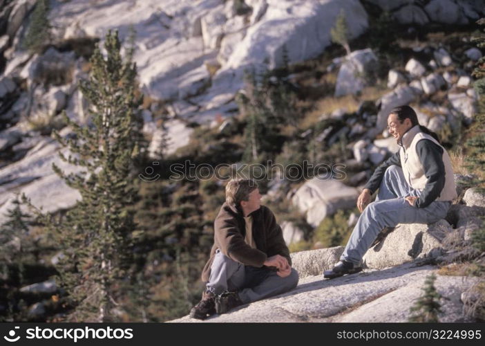
[[[386,268],[421,257],[441,255],[444,237],[453,232],[445,220],[435,224],[399,224],[379,244],[370,248],[363,260],[369,268]]]

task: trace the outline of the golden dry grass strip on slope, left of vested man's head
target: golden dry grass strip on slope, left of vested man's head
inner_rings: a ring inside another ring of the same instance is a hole
[[[368,86],[363,89],[359,97],[356,95],[345,95],[340,98],[334,98],[332,96],[323,98],[314,104],[314,109],[305,115],[305,118],[303,118],[298,127],[300,129],[308,129],[321,120],[323,114],[330,114],[336,109],[346,109],[348,113],[355,112],[362,101],[377,100],[387,92],[387,89],[379,86]]]

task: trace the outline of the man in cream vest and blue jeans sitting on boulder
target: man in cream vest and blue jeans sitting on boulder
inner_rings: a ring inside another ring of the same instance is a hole
[[[323,273],[325,278],[361,271],[362,257],[381,230],[443,219],[457,197],[450,156],[439,145],[436,134],[419,125],[411,107],[392,109],[388,130],[401,148],[381,163],[365,184],[357,199],[362,214],[340,262]],[[376,201],[368,205],[378,188]]]

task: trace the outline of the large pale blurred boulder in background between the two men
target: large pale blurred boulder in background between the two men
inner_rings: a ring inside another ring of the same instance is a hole
[[[306,213],[308,224],[316,227],[337,210],[354,208],[359,192],[341,181],[318,176],[299,188],[292,203]]]

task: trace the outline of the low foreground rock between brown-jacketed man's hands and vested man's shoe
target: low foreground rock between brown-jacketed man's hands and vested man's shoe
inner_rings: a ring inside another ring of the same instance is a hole
[[[331,269],[343,253],[343,246],[334,248],[319,248],[317,250],[291,253],[292,267],[298,271],[300,278],[321,275]]]

